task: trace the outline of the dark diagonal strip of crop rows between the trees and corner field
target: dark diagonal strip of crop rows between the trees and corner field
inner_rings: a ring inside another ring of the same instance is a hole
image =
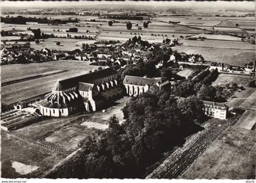
[[[197,158],[207,150],[210,145],[221,135],[229,125],[232,125],[240,116],[233,116],[227,120],[210,119],[204,123],[204,130],[199,131],[186,139],[183,147],[177,148],[163,161],[147,178],[188,179],[182,174]],[[189,170],[189,169],[188,169]],[[199,178],[191,176],[192,179]],[[190,179],[191,179],[190,178]]]

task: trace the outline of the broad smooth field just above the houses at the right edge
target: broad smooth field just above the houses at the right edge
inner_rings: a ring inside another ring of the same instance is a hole
[[[186,54],[202,55],[206,61],[222,62],[225,64],[232,64],[244,66],[244,64],[255,60],[255,50],[246,49],[224,49],[212,47],[191,47],[191,46],[176,46],[172,50],[178,52],[185,52]]]

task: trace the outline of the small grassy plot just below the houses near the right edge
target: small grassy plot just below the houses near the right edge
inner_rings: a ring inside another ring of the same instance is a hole
[[[229,83],[236,83],[238,86],[247,87],[254,77],[246,75],[219,74],[218,78],[212,83],[213,86],[226,86]]]

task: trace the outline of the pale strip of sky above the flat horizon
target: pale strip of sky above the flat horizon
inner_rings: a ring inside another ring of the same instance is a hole
[[[96,4],[132,4],[170,7],[215,7],[216,9],[252,9],[254,1],[1,1],[2,7],[59,7]]]

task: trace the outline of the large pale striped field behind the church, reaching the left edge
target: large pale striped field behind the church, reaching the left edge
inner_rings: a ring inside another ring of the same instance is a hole
[[[39,71],[53,71],[55,70],[68,70],[67,72],[63,72],[60,74],[49,75],[46,77],[35,78],[33,80],[27,80],[19,83],[14,83],[12,85],[2,86],[1,87],[1,100],[6,104],[16,103],[21,100],[26,100],[27,98],[35,97],[37,95],[44,94],[46,92],[50,92],[54,83],[57,79],[60,78],[68,78],[74,77],[76,75],[81,75],[88,73],[89,71],[93,71],[98,68],[98,66],[89,66],[89,63],[81,63],[81,62],[71,62],[71,61],[49,61],[44,63],[32,63],[32,64],[19,64],[15,67],[15,71],[20,67],[23,70],[20,70],[18,74],[19,77],[26,77],[33,73],[31,71],[36,68],[45,70]],[[5,67],[6,66],[6,67]],[[2,75],[4,75],[4,79],[7,78],[16,78],[15,71],[12,71],[12,65],[4,65],[1,66]]]

